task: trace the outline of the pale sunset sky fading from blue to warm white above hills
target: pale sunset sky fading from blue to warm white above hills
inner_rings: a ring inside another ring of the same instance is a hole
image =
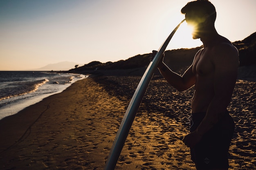
[[[158,50],[191,0],[1,0],[0,70],[116,62]],[[256,0],[210,0],[231,42],[256,32]],[[166,50],[201,46],[184,22]]]

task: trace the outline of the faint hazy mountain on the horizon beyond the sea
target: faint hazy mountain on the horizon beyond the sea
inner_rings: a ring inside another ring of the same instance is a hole
[[[32,71],[67,71],[75,68],[75,65],[81,66],[82,64],[75,62],[58,62],[55,64],[48,64],[41,68],[33,69]]]

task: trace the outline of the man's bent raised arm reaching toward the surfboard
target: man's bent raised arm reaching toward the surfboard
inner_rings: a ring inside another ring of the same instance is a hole
[[[168,66],[166,66],[163,62],[159,63],[158,69],[166,81],[171,84],[171,86],[176,88],[178,91],[186,91],[195,85],[195,74],[192,71],[192,65],[182,76],[171,71],[171,69],[168,68]]]

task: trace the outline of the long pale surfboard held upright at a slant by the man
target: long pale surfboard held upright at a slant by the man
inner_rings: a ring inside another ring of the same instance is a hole
[[[184,22],[182,20],[182,22]],[[180,24],[182,24],[180,22]],[[168,36],[168,38],[165,40],[165,42],[162,44],[162,46],[159,48],[158,52],[155,54],[155,57],[148,65],[144,75],[142,76],[139,85],[137,86],[135,93],[132,96],[132,99],[130,101],[130,104],[128,105],[128,108],[126,110],[126,113],[124,115],[123,120],[121,121],[121,125],[119,127],[119,130],[117,131],[117,135],[115,137],[115,140],[112,144],[112,148],[110,150],[108,159],[106,161],[106,165],[104,170],[114,170],[115,166],[117,164],[118,158],[121,154],[121,151],[124,147],[126,138],[128,136],[128,133],[130,131],[130,128],[132,126],[132,122],[135,119],[135,116],[137,114],[137,111],[139,109],[139,105],[141,104],[141,101],[146,93],[146,89],[148,88],[148,84],[150,83],[150,80],[153,77],[154,71],[157,68],[157,65],[159,64],[162,55],[164,54],[164,51],[170,42],[171,38],[173,37],[174,33],[179,28],[180,24],[178,24],[175,29],[171,32],[171,34]]]

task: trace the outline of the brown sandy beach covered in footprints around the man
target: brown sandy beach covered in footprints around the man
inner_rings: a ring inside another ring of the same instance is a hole
[[[229,105],[236,123],[230,170],[256,169],[256,81],[248,77],[238,79]],[[102,170],[140,79],[92,76],[0,120],[0,170]],[[195,170],[182,143],[192,95],[155,75],[116,169]]]

